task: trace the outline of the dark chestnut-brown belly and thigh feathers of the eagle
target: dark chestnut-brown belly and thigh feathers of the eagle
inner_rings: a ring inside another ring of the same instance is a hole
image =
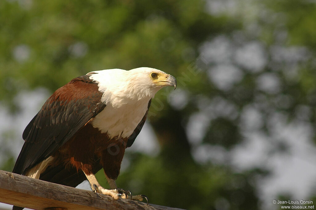
[[[109,139],[106,133],[100,133],[97,128],[87,124],[55,152],[54,164],[64,164],[65,167],[75,167],[77,171],[91,174],[95,161],[100,160],[106,175],[116,179],[126,143],[127,138]]]

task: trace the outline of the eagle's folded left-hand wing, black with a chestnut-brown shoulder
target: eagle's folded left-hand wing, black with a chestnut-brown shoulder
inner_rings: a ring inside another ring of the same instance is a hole
[[[101,97],[97,83],[86,75],[56,90],[25,128],[25,143],[13,172],[24,174],[51,156],[105,108]]]

